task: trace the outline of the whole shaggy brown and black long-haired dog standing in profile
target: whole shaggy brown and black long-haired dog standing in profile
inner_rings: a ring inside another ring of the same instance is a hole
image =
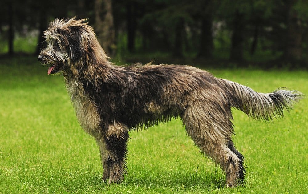
[[[180,117],[187,135],[234,187],[243,181],[245,168],[232,142],[231,107],[271,120],[302,97],[288,90],[257,93],[191,66],[116,66],[85,19],[55,19],[44,36],[47,48],[38,59],[50,66],[48,75],[64,75],[77,118],[100,148],[103,180],[109,183],[120,182],[126,172],[128,131]]]

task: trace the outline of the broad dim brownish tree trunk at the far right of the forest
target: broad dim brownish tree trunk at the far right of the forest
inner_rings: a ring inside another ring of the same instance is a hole
[[[285,57],[287,60],[300,60],[302,58],[302,34],[303,27],[296,11],[293,9],[296,1],[288,1],[287,8],[287,29]]]

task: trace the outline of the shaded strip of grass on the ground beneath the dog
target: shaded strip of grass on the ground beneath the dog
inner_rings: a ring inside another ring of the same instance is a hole
[[[91,186],[92,188],[121,187],[131,188],[140,187],[147,189],[156,188],[180,188],[192,189],[199,188],[204,190],[215,190],[225,187],[225,178],[219,169],[214,172],[203,172],[202,174],[187,172],[161,172],[161,176],[146,171],[144,174],[131,172],[124,176],[120,184],[108,184],[102,181],[102,173],[95,173],[87,177],[82,177],[79,184]]]

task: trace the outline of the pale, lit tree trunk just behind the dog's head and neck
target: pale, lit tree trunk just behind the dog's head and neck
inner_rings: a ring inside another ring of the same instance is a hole
[[[111,0],[95,0],[95,26],[97,39],[107,55],[115,54],[115,30]]]

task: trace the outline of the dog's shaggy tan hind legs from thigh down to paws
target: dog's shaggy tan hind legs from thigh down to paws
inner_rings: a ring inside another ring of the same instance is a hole
[[[208,110],[213,110],[212,108]],[[213,113],[213,112],[212,112]],[[217,112],[216,112],[217,114]],[[196,110],[188,107],[182,116],[187,134],[216,164],[226,173],[226,186],[235,187],[244,178],[243,156],[235,149],[230,140],[231,122],[216,119],[202,107]]]

